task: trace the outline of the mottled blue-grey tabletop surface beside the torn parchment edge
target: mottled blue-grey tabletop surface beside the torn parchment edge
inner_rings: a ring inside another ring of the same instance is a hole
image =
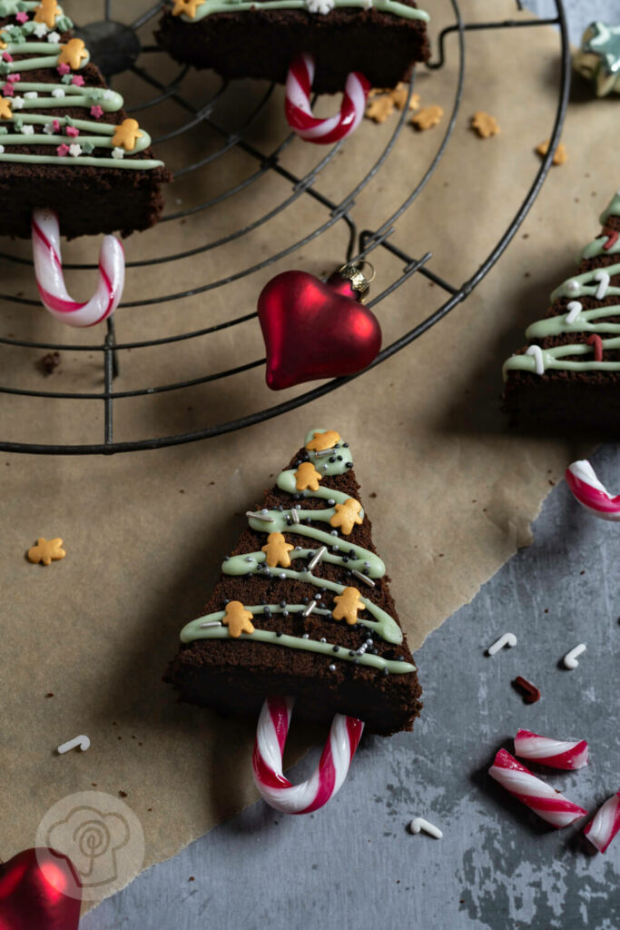
[[[545,15],[550,4],[529,6]],[[566,7],[574,41],[588,20],[620,21],[620,0]],[[594,461],[618,489],[617,449]],[[574,801],[594,809],[620,787],[620,526],[590,518],[562,484],[534,537],[418,652],[425,709],[413,735],[367,737],[323,811],[287,818],[256,804],[103,902],[81,930],[617,930],[620,840],[588,855],[578,828],[547,830],[486,776],[525,726],[590,742],[585,771],[550,777]],[[517,646],[486,658],[507,630]],[[578,669],[562,671],[581,641]],[[539,685],[538,704],[513,691],[517,674]],[[416,815],[443,839],[409,834]]]

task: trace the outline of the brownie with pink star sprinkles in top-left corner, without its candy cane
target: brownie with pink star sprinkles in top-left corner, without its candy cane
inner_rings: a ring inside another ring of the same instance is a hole
[[[30,236],[36,207],[67,236],[147,229],[161,213],[170,175],[72,26],[56,0],[0,2],[0,234]]]

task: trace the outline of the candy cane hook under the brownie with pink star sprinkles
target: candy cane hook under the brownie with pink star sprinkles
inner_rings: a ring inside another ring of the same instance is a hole
[[[33,210],[34,274],[39,294],[52,316],[67,326],[94,326],[117,308],[125,285],[125,252],[113,235],[99,251],[99,285],[86,303],[67,293],[60,257],[59,218],[52,210]]]

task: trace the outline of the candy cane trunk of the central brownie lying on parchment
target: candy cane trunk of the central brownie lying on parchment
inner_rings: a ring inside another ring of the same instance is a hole
[[[336,713],[321,760],[307,781],[284,777],[283,756],[294,697],[267,697],[260,711],[252,765],[261,796],[284,814],[310,814],[323,807],[347,777],[363,733],[363,721]]]

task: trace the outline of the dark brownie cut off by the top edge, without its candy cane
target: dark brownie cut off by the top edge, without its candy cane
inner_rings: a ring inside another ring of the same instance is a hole
[[[429,59],[427,20],[414,0],[176,0],[156,37],[175,60],[226,79],[284,84],[291,61],[305,52],[315,60],[313,89],[321,94],[342,90],[354,71],[375,87],[406,80],[416,61]]]

